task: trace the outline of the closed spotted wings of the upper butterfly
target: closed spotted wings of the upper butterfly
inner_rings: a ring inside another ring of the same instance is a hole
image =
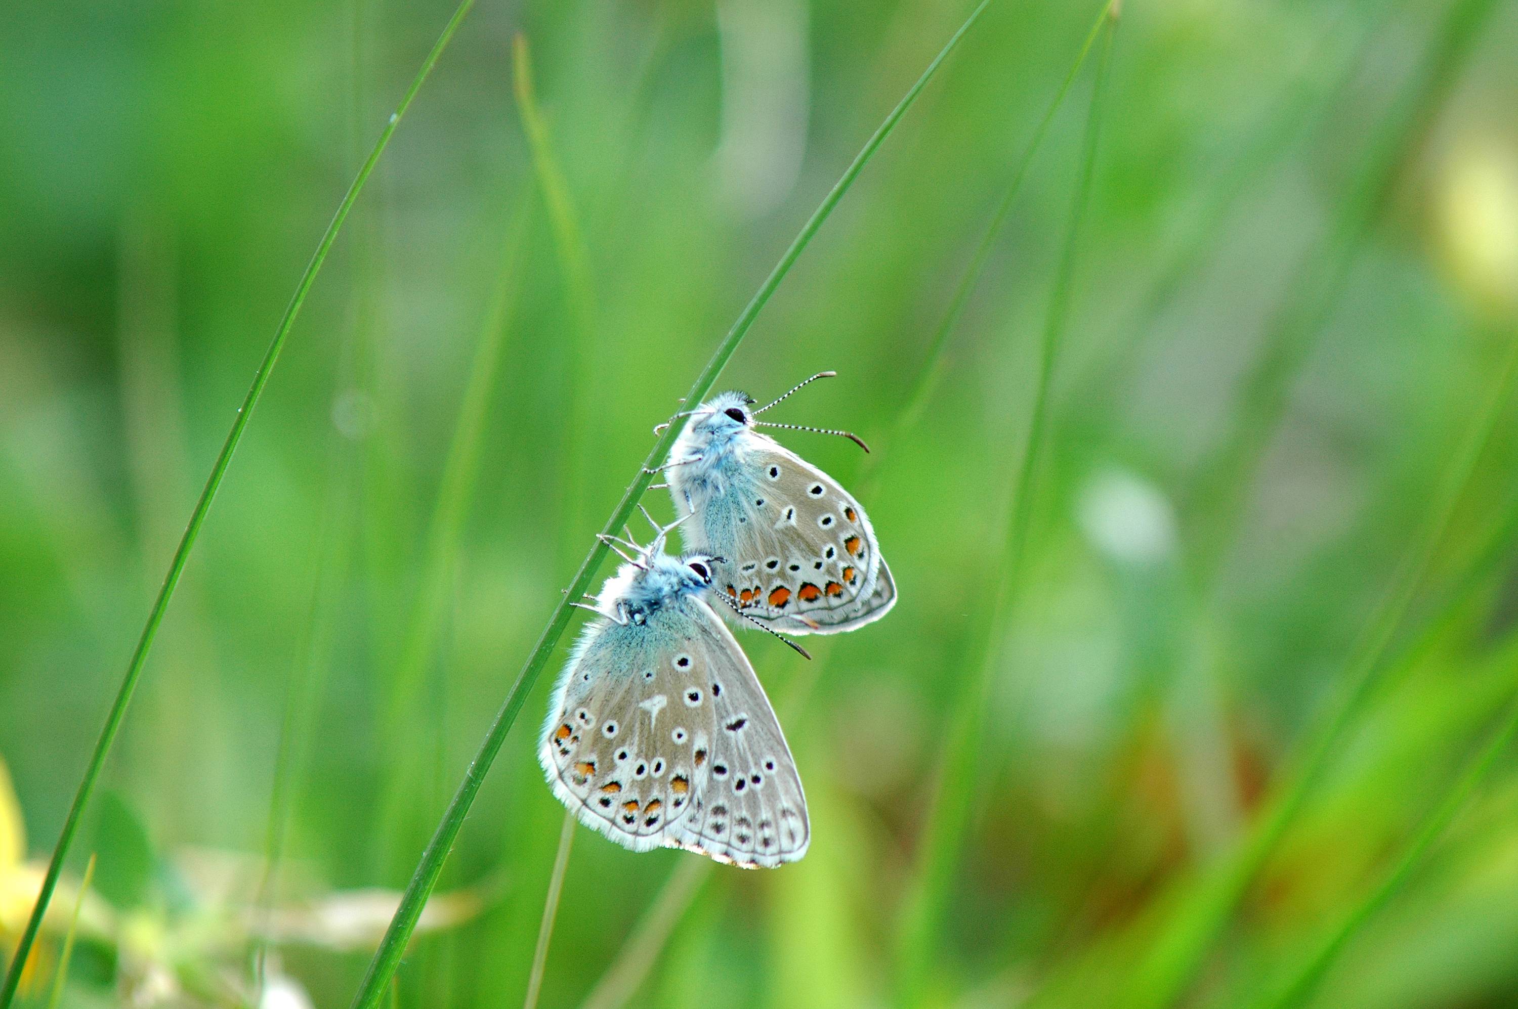
[[[874,528],[838,481],[753,432],[724,476],[671,486],[677,505],[692,493],[689,546],[726,558],[713,592],[792,634],[852,631],[896,605]]]

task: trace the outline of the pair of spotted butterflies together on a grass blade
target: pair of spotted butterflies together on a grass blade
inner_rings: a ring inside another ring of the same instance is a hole
[[[756,426],[723,393],[660,469],[682,513],[606,581],[550,701],[539,762],[554,795],[635,851],[677,847],[744,868],[806,853],[806,795],[753,666],[718,619],[771,633],[835,634],[896,604],[864,508],[835,479]],[[868,449],[867,449],[868,451]],[[647,514],[647,513],[645,513]],[[653,522],[653,519],[650,519]],[[688,552],[665,537],[680,527]],[[792,645],[802,654],[800,646]]]

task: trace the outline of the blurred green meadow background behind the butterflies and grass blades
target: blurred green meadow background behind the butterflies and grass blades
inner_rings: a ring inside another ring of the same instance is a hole
[[[1366,906],[1518,693],[1518,410],[1488,408],[1518,338],[1518,9],[1126,3],[924,372],[1098,12],[993,5],[720,382],[767,398],[835,369],[777,419],[876,449],[783,438],[868,492],[900,605],[811,665],[742,637],[811,853],[704,872],[581,830],[543,1006],[1257,1004]],[[480,0],[254,416],[24,1004],[52,992],[91,854],[62,1004],[249,1004],[270,933],[263,1006],[348,1004],[651,425],[967,14]],[[0,787],[0,956],[301,269],[448,15],[0,14],[0,759],[18,800]],[[1014,495],[1108,46],[1041,455]],[[924,373],[926,410],[899,423]],[[533,757],[560,662],[398,1004],[524,997],[563,819]],[[1372,689],[1345,709],[1362,668]],[[1330,759],[1299,815],[1166,980],[1208,868],[1315,745]],[[914,939],[935,830],[941,915]],[[1313,998],[1518,1004],[1518,757]]]

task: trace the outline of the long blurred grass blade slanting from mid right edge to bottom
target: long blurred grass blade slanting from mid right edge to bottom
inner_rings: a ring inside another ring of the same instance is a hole
[[[1345,731],[1365,710],[1381,681],[1378,674],[1386,668],[1383,660],[1395,640],[1397,630],[1422,587],[1439,543],[1450,528],[1456,505],[1465,495],[1477,461],[1503,417],[1515,370],[1518,370],[1518,341],[1500,367],[1486,402],[1456,446],[1450,466],[1439,481],[1435,507],[1424,528],[1415,534],[1413,546],[1394,577],[1386,602],[1366,628],[1360,645],[1351,652],[1353,659],[1340,680],[1337,701],[1292,763],[1290,772],[1284,775],[1266,812],[1255,821],[1239,850],[1208,872],[1196,903],[1183,912],[1173,927],[1161,933],[1143,957],[1135,983],[1129,988],[1132,992],[1129,1004],[1170,1006],[1186,994],[1213,942],[1233,916],[1234,907],[1277,850],[1307,795],[1339,751]]]

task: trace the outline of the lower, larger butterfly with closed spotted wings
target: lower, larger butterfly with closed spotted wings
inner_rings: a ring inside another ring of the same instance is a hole
[[[647,513],[645,513],[647,514]],[[607,578],[559,677],[537,759],[581,824],[633,851],[744,868],[806,854],[806,795],[753,666],[703,595],[720,558],[612,540]],[[616,543],[631,548],[624,554]]]

